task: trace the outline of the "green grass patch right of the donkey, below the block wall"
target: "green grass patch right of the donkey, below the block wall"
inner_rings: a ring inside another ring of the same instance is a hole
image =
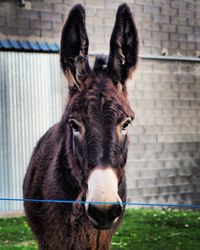
[[[199,250],[200,211],[128,210],[112,250]]]

